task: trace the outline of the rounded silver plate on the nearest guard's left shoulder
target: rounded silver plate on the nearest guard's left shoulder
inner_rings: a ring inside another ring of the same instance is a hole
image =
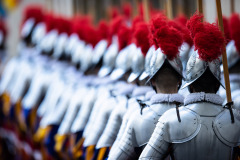
[[[164,140],[169,143],[183,143],[193,139],[200,131],[200,116],[185,108],[179,107],[180,120],[176,108],[165,112],[159,119],[164,132]],[[159,125],[158,125],[159,126]]]

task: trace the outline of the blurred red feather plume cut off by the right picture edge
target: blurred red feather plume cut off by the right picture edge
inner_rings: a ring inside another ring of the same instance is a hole
[[[232,39],[235,42],[235,46],[240,53],[240,17],[238,14],[234,13],[230,17],[229,21],[230,26],[230,34]]]

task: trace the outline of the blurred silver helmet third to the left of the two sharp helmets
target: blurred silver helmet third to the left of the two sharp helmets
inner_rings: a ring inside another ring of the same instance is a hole
[[[121,78],[127,71],[131,69],[133,53],[136,51],[136,45],[130,44],[123,48],[116,59],[116,67],[110,75],[112,80]]]

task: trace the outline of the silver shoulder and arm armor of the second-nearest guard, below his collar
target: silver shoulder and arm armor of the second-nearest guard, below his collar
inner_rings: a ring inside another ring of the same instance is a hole
[[[135,111],[119,141],[119,148],[114,148],[114,151],[110,152],[110,159],[119,159],[122,153],[125,153],[125,156],[128,155],[126,156],[128,158],[137,158],[140,151],[135,152],[136,149],[141,147],[143,149],[143,146],[149,141],[159,117],[173,107],[176,107],[174,103],[158,103],[144,108],[142,114],[140,111]],[[124,158],[127,159],[126,157]]]

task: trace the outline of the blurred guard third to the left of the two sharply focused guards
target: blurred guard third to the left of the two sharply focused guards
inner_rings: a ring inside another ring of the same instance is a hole
[[[117,32],[117,38],[118,38],[118,46],[119,46],[119,53],[116,58],[116,64],[115,69],[110,74],[110,79],[112,81],[119,81],[119,80],[125,80],[129,76],[129,70],[131,69],[131,61],[133,56],[133,51],[135,49],[135,46],[133,46],[131,43],[132,35],[131,35],[131,27],[127,25],[125,22],[125,19],[123,19],[122,23],[120,24],[119,30]],[[130,44],[130,45],[129,45]],[[125,83],[125,82],[124,82]],[[97,141],[99,140],[101,134],[103,133],[103,130],[106,126],[107,120],[114,110],[117,101],[121,102],[123,100],[117,100],[120,95],[130,95],[132,93],[133,88],[135,85],[133,84],[127,84],[125,83],[126,91],[123,94],[117,94],[115,96],[109,97],[109,100],[107,103],[102,104],[101,110],[98,111],[98,116],[94,120],[94,122],[88,126],[91,126],[83,133],[83,136],[86,138],[83,146],[87,148],[86,156],[91,157],[90,148],[95,148]],[[132,89],[131,89],[132,88]],[[129,92],[130,91],[130,92]],[[92,113],[91,113],[92,116]],[[93,131],[94,132],[91,132]],[[98,155],[98,149],[94,149],[95,155],[94,157],[97,157]],[[93,159],[94,159],[93,157]]]

